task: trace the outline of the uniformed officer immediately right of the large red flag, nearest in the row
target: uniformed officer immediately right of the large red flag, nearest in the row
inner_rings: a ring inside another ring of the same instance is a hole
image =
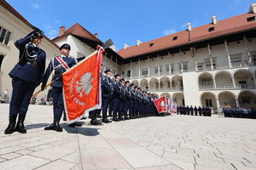
[[[110,78],[112,77],[112,71],[108,69],[104,72],[106,76],[102,77],[102,122],[108,123],[111,122],[108,120],[107,111],[109,99],[113,95],[113,85]]]

